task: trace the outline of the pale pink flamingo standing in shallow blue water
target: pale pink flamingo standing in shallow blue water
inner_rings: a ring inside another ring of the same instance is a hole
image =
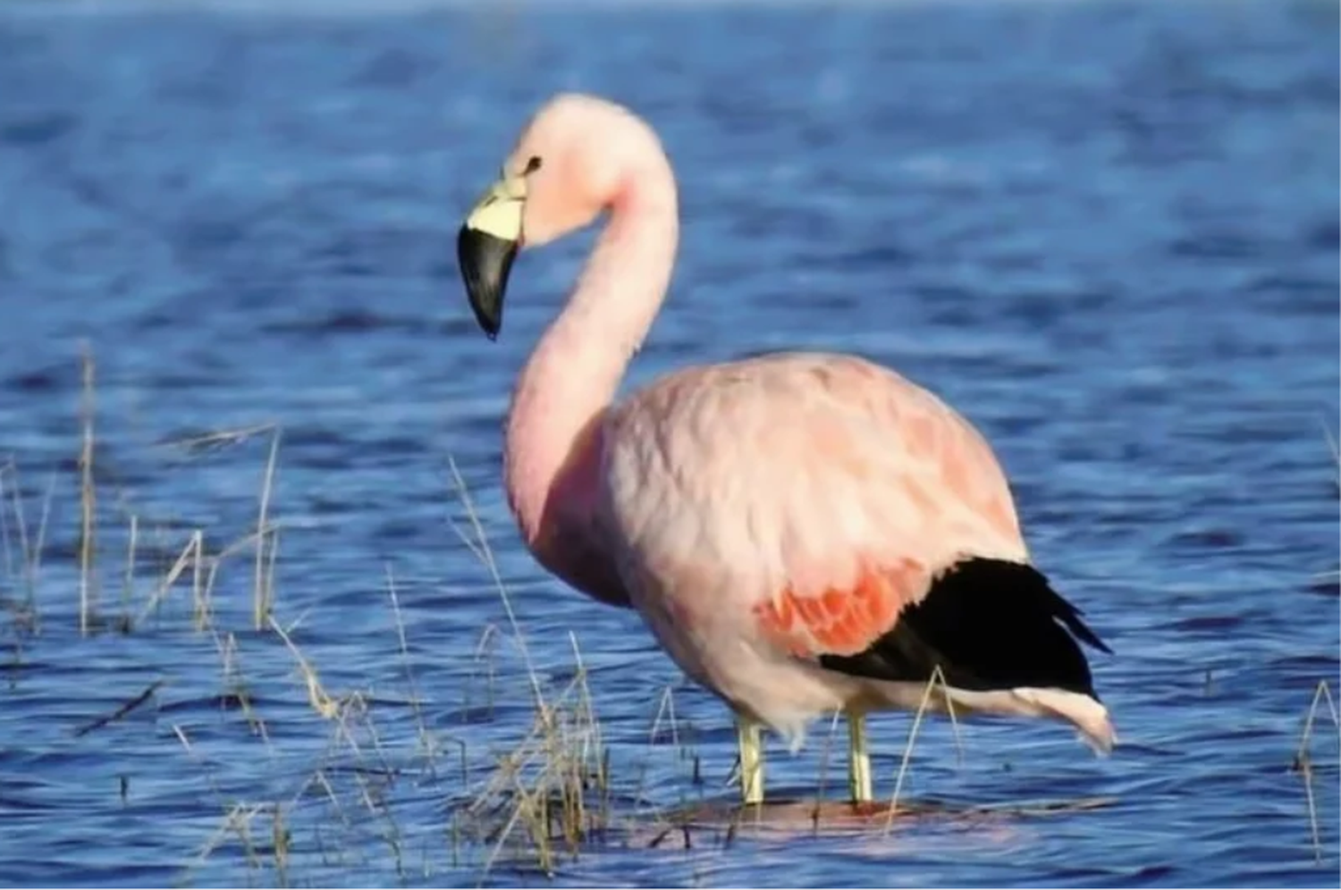
[[[1109,753],[1080,643],[1110,650],[1031,564],[1002,466],[935,394],[856,355],[790,351],[684,367],[616,399],[680,225],[666,153],[628,107],[550,98],[469,210],[457,259],[484,334],[502,328],[519,251],[601,214],[512,391],[507,503],[540,566],[636,610],[731,709],[743,803],[763,802],[760,728],[795,755],[835,712],[854,803],[872,799],[877,710],[1049,718]]]

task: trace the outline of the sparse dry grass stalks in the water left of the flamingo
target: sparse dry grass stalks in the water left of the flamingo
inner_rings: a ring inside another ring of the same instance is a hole
[[[296,621],[282,622],[283,603],[275,582],[282,521],[276,519],[275,480],[280,464],[282,430],[272,424],[233,430],[212,430],[188,438],[162,442],[174,454],[186,457],[188,466],[224,450],[245,448],[260,440],[268,444],[257,492],[255,525],[229,543],[217,547],[211,529],[182,527],[176,520],[148,520],[126,491],[118,491],[95,462],[103,453],[98,438],[95,413],[95,363],[93,354],[80,354],[82,394],[78,407],[79,460],[76,487],[79,500],[78,535],[74,564],[78,570],[78,609],[74,613],[80,637],[107,631],[135,634],[174,633],[180,617],[189,615],[182,627],[197,635],[219,661],[221,692],[219,704],[224,713],[237,713],[249,736],[259,745],[260,757],[282,759],[283,751],[274,737],[275,717],[263,716],[257,696],[244,672],[241,627],[243,614],[233,599],[239,584],[221,580],[228,566],[239,556],[249,556],[249,631],[245,646],[272,651],[280,646],[294,668],[298,692],[316,725],[325,726],[327,743],[322,757],[306,775],[283,776],[291,791],[283,796],[239,799],[216,779],[220,767],[202,753],[196,732],[186,722],[170,724],[176,740],[173,751],[184,757],[182,769],[202,777],[220,814],[217,826],[202,838],[200,848],[182,875],[192,881],[200,869],[215,867],[217,856],[237,856],[260,879],[278,885],[290,883],[299,863],[314,859],[323,866],[346,863],[350,850],[363,850],[367,842],[382,852],[378,869],[389,861],[405,878],[412,865],[406,848],[408,832],[393,806],[405,785],[432,788],[448,802],[445,824],[437,832],[441,848],[449,851],[447,867],[477,867],[480,874],[507,863],[510,867],[538,869],[552,874],[561,859],[577,855],[597,843],[611,820],[609,785],[610,760],[595,716],[587,673],[575,637],[570,637],[573,678],[558,689],[548,689],[534,668],[527,639],[512,606],[512,596],[503,584],[493,554],[475,512],[464,481],[455,464],[452,474],[459,484],[459,497],[465,508],[468,529],[457,528],[469,550],[492,579],[499,602],[507,615],[506,630],[488,626],[481,635],[477,655],[487,662],[487,676],[480,677],[489,710],[498,693],[496,649],[500,641],[520,653],[524,677],[532,697],[532,725],[510,749],[491,753],[473,749],[464,739],[445,736],[430,728],[425,704],[410,658],[410,634],[401,611],[401,595],[390,566],[385,568],[385,602],[394,623],[394,638],[388,641],[398,659],[408,694],[404,698],[374,694],[371,689],[333,690],[323,680],[316,659],[299,642]],[[9,666],[23,668],[25,647],[42,631],[44,611],[51,617],[64,614],[56,599],[43,603],[42,568],[50,556],[47,548],[48,516],[56,476],[52,474],[42,496],[40,517],[34,523],[32,491],[9,461],[0,466],[0,558],[4,560],[4,586],[0,603],[9,613],[12,651]],[[109,496],[109,485],[111,495]],[[119,543],[121,555],[111,562],[102,559],[111,543]],[[119,587],[115,621],[103,614],[99,598],[103,574],[111,572]],[[237,578],[232,578],[237,580]],[[47,606],[44,609],[44,606]],[[271,643],[270,641],[274,641]],[[186,666],[198,672],[198,665]],[[17,674],[15,674],[17,676]],[[479,697],[469,684],[464,697]],[[134,714],[154,712],[170,697],[173,677],[162,677],[141,688],[122,704],[102,713],[90,713],[71,729],[74,737],[98,736]],[[276,692],[267,689],[267,698]],[[404,732],[394,743],[386,741],[384,716],[400,709],[413,716],[413,743]],[[290,718],[291,722],[291,718]],[[129,779],[121,792],[129,792]],[[430,856],[420,851],[418,867],[430,869]],[[434,867],[443,867],[440,863]]]

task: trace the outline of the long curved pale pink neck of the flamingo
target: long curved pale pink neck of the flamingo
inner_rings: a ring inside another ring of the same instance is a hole
[[[555,508],[567,516],[589,512],[599,461],[593,421],[614,398],[670,281],[679,209],[669,162],[660,155],[621,181],[575,290],[512,394],[504,476],[508,503],[532,543]]]

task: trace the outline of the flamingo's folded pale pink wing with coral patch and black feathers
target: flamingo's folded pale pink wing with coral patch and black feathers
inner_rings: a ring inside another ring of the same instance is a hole
[[[780,354],[675,374],[617,411],[606,484],[645,576],[691,611],[742,606],[793,657],[1093,694],[1075,638],[1104,645],[1029,564],[991,449],[888,369]]]

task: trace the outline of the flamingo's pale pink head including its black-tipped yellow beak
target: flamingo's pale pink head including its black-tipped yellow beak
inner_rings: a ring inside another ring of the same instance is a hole
[[[561,94],[530,119],[456,237],[465,294],[489,339],[503,327],[518,252],[591,224],[618,197],[649,135],[626,109],[582,94]]]

